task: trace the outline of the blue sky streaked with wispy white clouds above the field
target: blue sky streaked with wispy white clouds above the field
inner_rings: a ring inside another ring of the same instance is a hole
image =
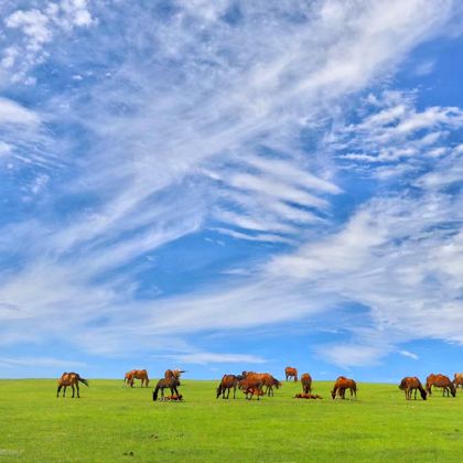
[[[462,24],[0,1],[0,377],[461,372]]]

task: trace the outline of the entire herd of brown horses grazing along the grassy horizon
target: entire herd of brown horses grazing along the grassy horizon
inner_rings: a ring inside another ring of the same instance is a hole
[[[161,400],[182,400],[182,395],[179,394],[180,377],[182,373],[185,373],[183,369],[168,369],[164,373],[164,377],[161,378],[154,390],[153,390],[153,400],[158,400],[159,392],[161,392]],[[293,379],[294,383],[298,383],[298,370],[294,367],[287,367],[284,369],[286,380]],[[134,380],[139,379],[141,381],[141,387],[149,387],[150,379],[148,377],[148,372],[146,369],[132,369],[126,373],[123,378],[125,387],[133,387]],[[88,381],[82,378],[77,373],[63,373],[58,379],[58,387],[56,397],[60,397],[60,391],[63,390],[63,397],[66,395],[66,388],[69,386],[73,389],[73,398],[75,390],[77,391],[77,398],[79,398],[79,386],[82,383],[88,387]],[[281,383],[274,378],[269,373],[256,373],[256,372],[243,372],[241,375],[224,375],[216,390],[216,398],[222,397],[223,399],[228,399],[230,391],[233,389],[233,398],[236,398],[236,390],[241,390],[245,394],[246,399],[251,400],[254,396],[259,400],[261,396],[267,395],[268,397],[273,396],[273,388],[279,389]],[[301,386],[302,394],[298,394],[295,398],[303,399],[321,399],[320,396],[312,394],[312,377],[309,373],[304,373],[301,376]],[[456,389],[459,387],[463,388],[463,373],[455,373],[454,379],[451,380],[448,376],[444,375],[434,375],[431,374],[428,376],[426,381],[426,388],[422,386],[421,381],[416,377],[406,377],[401,380],[399,389],[405,391],[407,400],[411,399],[412,394],[414,392],[414,399],[417,399],[417,391],[420,391],[421,398],[427,399],[427,396],[432,395],[432,387],[441,388],[442,395],[450,397],[452,395],[455,397]],[[170,389],[171,395],[165,397],[164,389]],[[354,379],[346,378],[345,376],[340,376],[334,383],[334,387],[331,391],[331,397],[335,399],[345,399],[346,391],[349,391],[351,399],[357,397],[357,384]]]

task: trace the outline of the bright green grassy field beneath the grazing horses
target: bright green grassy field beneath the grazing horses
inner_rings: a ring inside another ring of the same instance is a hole
[[[299,462],[463,460],[463,394],[406,401],[395,385],[359,384],[358,400],[297,400],[284,384],[260,401],[215,398],[216,381],[182,381],[184,402],[152,388],[90,380],[80,399],[55,380],[0,380],[0,461]]]

